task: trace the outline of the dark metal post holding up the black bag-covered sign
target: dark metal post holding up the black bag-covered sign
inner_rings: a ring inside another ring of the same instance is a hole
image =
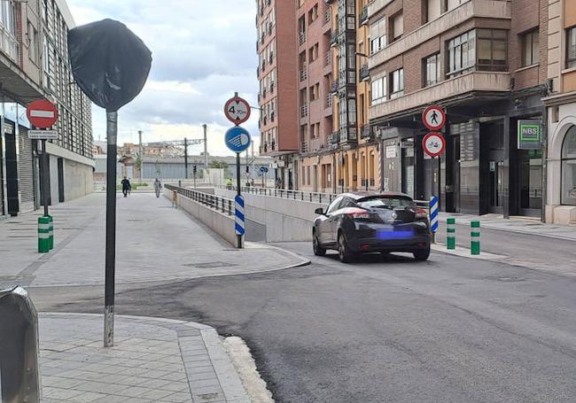
[[[116,158],[118,112],[106,112],[108,142],[106,171],[106,259],[105,259],[105,309],[104,346],[114,345],[114,276],[116,270]]]

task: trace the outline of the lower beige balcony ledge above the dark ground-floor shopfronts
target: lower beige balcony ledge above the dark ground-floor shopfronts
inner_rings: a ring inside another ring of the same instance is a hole
[[[370,120],[474,91],[510,91],[510,73],[472,72],[370,107]]]

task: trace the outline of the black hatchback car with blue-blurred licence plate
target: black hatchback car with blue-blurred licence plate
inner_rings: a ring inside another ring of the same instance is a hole
[[[411,252],[416,260],[430,256],[432,233],[428,213],[398,192],[345,193],[318,214],[312,229],[314,253],[339,252],[349,263],[360,253]]]

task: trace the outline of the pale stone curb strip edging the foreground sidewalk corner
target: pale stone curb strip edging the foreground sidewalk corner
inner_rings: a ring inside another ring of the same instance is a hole
[[[102,314],[67,314],[43,312],[39,313],[39,316],[43,317],[44,319],[50,319],[51,317],[78,317],[93,319],[97,318],[104,320]],[[180,345],[183,364],[186,370],[186,375],[189,379],[189,384],[191,384],[191,379],[193,378],[195,363],[193,360],[190,360],[191,357],[186,354],[186,351],[188,350],[187,344],[188,339],[191,337],[189,333],[190,328],[198,330],[200,336],[202,337],[202,341],[206,346],[206,352],[208,354],[209,360],[212,362],[218,383],[222,388],[225,401],[227,403],[250,403],[250,399],[248,398],[248,394],[246,393],[242,381],[237,374],[236,368],[234,368],[228,353],[226,353],[218,332],[213,327],[197,322],[184,322],[174,319],[152,318],[147,316],[116,315],[116,319],[174,330],[178,337],[178,344]],[[188,333],[186,329],[189,329]],[[195,402],[202,401],[201,397],[197,399],[192,385],[191,394],[192,399]]]

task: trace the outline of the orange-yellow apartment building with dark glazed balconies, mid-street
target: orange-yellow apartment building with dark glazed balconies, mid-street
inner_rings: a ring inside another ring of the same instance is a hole
[[[323,2],[302,3],[302,15],[309,15]],[[321,43],[329,47],[321,47],[326,49],[321,82],[328,95],[320,132],[315,135],[313,128],[309,143],[304,137],[299,186],[324,192],[378,189],[378,143],[368,121],[368,0],[325,3]]]

